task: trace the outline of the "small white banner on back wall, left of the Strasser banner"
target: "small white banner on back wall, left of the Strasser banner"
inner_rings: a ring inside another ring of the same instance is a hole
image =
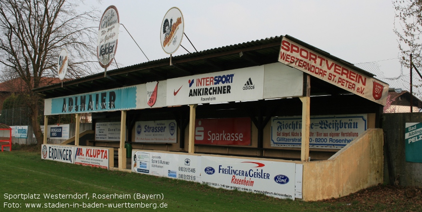
[[[120,122],[95,123],[95,141],[120,141]]]

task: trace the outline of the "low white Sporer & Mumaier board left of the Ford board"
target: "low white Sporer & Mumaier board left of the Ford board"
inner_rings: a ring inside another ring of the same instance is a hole
[[[148,151],[132,151],[132,172],[199,182],[200,157]]]

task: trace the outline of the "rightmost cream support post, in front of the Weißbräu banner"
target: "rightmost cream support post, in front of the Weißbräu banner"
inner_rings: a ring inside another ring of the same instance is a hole
[[[302,101],[302,149],[301,161],[309,161],[309,134],[311,128],[310,103],[311,97],[299,97]]]

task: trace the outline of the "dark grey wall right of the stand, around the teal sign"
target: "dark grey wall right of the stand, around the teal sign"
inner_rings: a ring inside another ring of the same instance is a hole
[[[405,124],[412,122],[422,122],[422,113],[383,114],[386,145],[390,150],[385,152],[384,160],[384,182],[386,183],[422,187],[422,163],[406,162]],[[389,159],[391,159],[392,180],[389,178]]]

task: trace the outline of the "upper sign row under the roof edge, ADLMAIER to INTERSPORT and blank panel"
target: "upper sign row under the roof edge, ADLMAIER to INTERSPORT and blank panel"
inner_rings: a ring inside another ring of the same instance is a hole
[[[301,96],[302,83],[301,71],[272,63],[45,99],[44,115]]]

